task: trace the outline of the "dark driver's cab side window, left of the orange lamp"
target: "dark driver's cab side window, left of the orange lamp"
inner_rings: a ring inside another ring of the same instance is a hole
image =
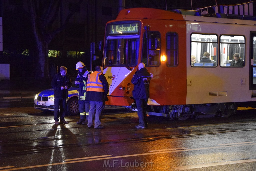
[[[146,66],[160,65],[160,33],[147,31],[143,35],[142,62]]]

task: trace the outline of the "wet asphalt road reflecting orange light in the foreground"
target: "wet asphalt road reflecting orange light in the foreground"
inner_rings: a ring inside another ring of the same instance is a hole
[[[105,129],[54,125],[33,107],[0,109],[0,170],[255,170],[255,110],[230,117],[169,120],[108,110]]]

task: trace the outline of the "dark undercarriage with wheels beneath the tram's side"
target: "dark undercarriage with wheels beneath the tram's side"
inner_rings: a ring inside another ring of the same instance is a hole
[[[200,117],[228,117],[237,112],[236,103],[214,103],[195,105],[148,106],[148,115],[164,116],[185,120]]]

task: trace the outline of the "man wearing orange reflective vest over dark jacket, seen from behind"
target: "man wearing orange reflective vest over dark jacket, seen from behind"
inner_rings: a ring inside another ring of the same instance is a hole
[[[105,106],[105,101],[108,101],[107,94],[109,92],[109,84],[106,77],[103,75],[103,69],[101,66],[96,66],[95,71],[88,75],[86,83],[86,100],[90,101],[90,111],[88,116],[89,128],[93,127],[93,113],[95,113],[94,118],[94,128],[102,129],[100,117]]]

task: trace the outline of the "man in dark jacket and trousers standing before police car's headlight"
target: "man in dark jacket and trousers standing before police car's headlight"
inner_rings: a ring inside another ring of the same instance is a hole
[[[54,120],[55,124],[60,122],[67,124],[64,117],[66,115],[66,102],[68,98],[68,89],[72,82],[70,76],[67,74],[65,66],[60,67],[60,72],[55,74],[51,81],[51,86],[54,88]]]

